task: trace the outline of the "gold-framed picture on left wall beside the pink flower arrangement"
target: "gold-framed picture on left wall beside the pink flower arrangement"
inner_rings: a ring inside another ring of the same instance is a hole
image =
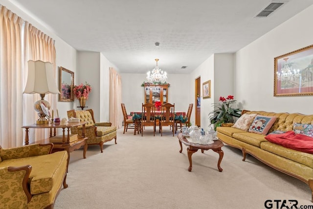
[[[71,102],[74,101],[74,72],[60,67],[60,101]]]

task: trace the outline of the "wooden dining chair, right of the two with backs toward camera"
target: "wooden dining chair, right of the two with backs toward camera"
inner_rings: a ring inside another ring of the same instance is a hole
[[[159,118],[159,131],[161,132],[161,136],[163,132],[163,128],[162,128],[163,126],[170,126],[170,130],[172,126],[173,127],[172,132],[173,132],[173,137],[174,137],[175,103],[174,104],[166,103],[162,105],[161,116]]]

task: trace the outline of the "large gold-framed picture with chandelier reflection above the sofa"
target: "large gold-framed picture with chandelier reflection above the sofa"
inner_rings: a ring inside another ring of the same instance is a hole
[[[274,96],[313,95],[313,45],[274,58]]]

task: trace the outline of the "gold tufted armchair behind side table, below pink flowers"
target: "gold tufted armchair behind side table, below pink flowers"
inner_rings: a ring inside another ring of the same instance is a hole
[[[80,118],[80,121],[86,121],[85,137],[88,137],[87,143],[99,144],[101,152],[103,152],[103,143],[115,139],[116,144],[116,127],[111,126],[110,122],[96,123],[93,117],[93,110],[69,110],[67,111],[68,118]],[[83,135],[82,126],[70,128],[72,134]]]

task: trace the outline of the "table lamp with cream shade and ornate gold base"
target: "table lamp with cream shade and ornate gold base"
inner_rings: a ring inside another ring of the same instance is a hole
[[[53,76],[53,65],[50,62],[41,60],[28,61],[28,76],[23,93],[39,93],[41,100],[34,104],[39,119],[36,124],[48,124],[50,117],[50,103],[46,101],[46,93],[60,93]]]

